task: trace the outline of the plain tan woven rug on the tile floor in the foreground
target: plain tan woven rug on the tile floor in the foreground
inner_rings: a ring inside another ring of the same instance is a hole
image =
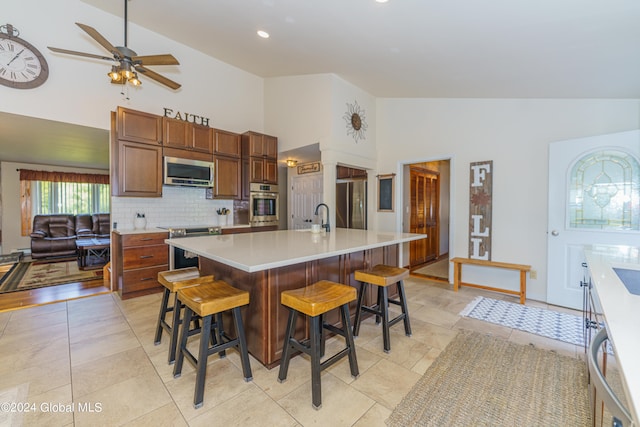
[[[590,426],[587,367],[533,345],[463,331],[386,424]]]

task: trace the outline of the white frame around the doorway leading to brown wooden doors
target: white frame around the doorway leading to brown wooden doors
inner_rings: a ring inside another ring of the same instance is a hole
[[[398,177],[402,177],[402,179],[396,179],[395,181],[395,191],[400,197],[396,197],[395,199],[395,209],[396,212],[399,212],[400,215],[396,216],[396,230],[402,230],[403,232],[408,232],[409,223],[405,221],[406,212],[404,209],[405,204],[410,203],[410,200],[407,200],[407,192],[409,189],[406,188],[405,183],[405,171],[408,174],[409,168],[411,165],[416,163],[428,163],[428,162],[437,162],[437,161],[449,161],[449,227],[448,227],[448,235],[449,235],[449,254],[455,253],[455,227],[456,223],[456,210],[454,200],[455,196],[455,188],[456,188],[456,174],[455,174],[455,156],[453,154],[444,155],[444,156],[435,156],[435,157],[418,157],[412,158],[411,160],[400,160],[397,163],[396,173]],[[442,179],[443,175],[440,175]],[[442,192],[439,194],[439,203],[440,208],[442,208]],[[405,244],[400,251],[400,265],[408,265],[409,263],[409,245]],[[453,267],[449,264],[449,283],[453,283]]]

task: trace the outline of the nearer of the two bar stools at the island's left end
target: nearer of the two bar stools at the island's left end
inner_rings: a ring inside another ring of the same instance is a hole
[[[185,311],[176,364],[173,368],[173,377],[180,377],[182,373],[182,363],[185,358],[195,367],[196,389],[193,405],[198,409],[202,406],[204,399],[204,383],[207,375],[207,358],[209,355],[222,353],[228,348],[236,347],[240,352],[240,358],[242,360],[244,380],[251,381],[253,379],[251,365],[249,364],[249,353],[247,351],[244,326],[240,315],[240,307],[249,304],[249,292],[236,289],[222,280],[211,279],[205,283],[201,283],[199,286],[178,289],[178,299],[185,305]],[[212,318],[214,315],[219,315],[224,311],[231,311],[236,327],[236,338],[231,338],[224,332],[221,321],[222,317],[219,316],[220,321],[217,322],[219,338],[215,344],[209,347],[213,329]],[[200,346],[197,358],[187,349],[187,338],[190,335],[188,325],[194,314],[202,318]]]

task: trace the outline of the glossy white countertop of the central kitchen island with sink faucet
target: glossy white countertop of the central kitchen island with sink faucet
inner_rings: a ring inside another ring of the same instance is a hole
[[[424,234],[337,228],[317,234],[309,230],[278,230],[183,237],[165,242],[253,273],[425,237]]]

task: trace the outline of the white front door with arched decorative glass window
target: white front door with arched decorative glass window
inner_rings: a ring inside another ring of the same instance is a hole
[[[584,245],[640,244],[640,131],[549,145],[547,302],[582,308]]]

